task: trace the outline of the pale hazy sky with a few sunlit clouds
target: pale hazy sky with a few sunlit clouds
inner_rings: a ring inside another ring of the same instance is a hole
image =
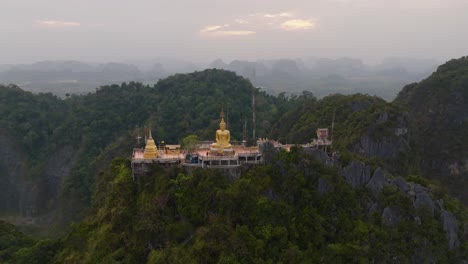
[[[468,0],[0,0],[0,64],[468,55]]]

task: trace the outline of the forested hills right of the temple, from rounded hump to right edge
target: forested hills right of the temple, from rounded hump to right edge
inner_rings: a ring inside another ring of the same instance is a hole
[[[342,159],[430,177],[468,204],[467,98],[468,59],[463,57],[407,85],[394,102],[355,94],[296,103],[274,126],[273,138],[307,142],[311,130],[331,127],[335,113],[334,147]]]

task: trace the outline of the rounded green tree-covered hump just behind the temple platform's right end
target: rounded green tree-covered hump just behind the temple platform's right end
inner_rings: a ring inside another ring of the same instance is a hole
[[[335,113],[334,140],[340,146],[348,146],[366,132],[379,113],[386,110],[386,105],[389,103],[383,99],[362,94],[330,95],[322,100],[307,98],[282,117],[274,136],[282,142],[310,142],[317,128],[331,129]]]

